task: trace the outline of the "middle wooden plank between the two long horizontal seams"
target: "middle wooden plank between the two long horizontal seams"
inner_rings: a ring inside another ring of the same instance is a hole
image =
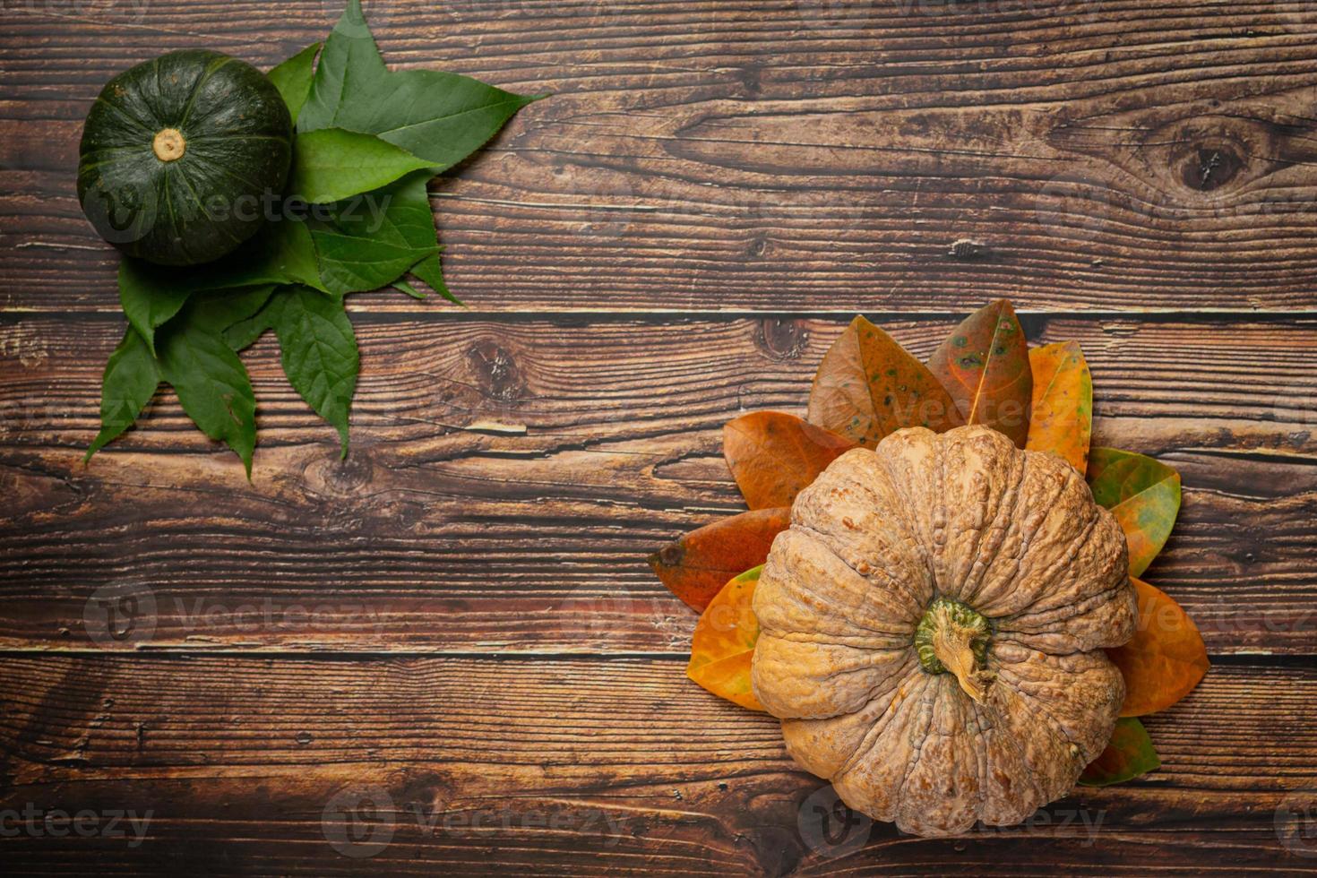
[[[951,325],[886,323],[919,354]],[[0,326],[0,642],[86,648],[104,628],[84,619],[99,590],[149,588],[154,648],[682,653],[694,617],[644,555],[741,508],[720,425],[801,411],[843,326],[357,324],[342,462],[283,383],[273,340],[248,355],[262,404],[250,484],[167,394],[83,469],[120,324]],[[1184,511],[1148,575],[1209,648],[1317,650],[1313,325],[1030,324],[1088,351],[1098,442],[1181,471]]]

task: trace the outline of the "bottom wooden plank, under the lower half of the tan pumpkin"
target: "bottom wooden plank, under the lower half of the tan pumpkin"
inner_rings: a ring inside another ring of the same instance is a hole
[[[1047,864],[1146,875],[1191,864],[1197,874],[1317,865],[1299,856],[1310,840],[1283,837],[1276,823],[1317,786],[1312,667],[1214,667],[1148,720],[1164,765],[1142,782],[1079,790],[1031,825],[952,841],[856,825],[851,844],[867,844],[848,853],[811,823],[818,799],[807,798],[823,785],[790,763],[776,721],[689,683],[681,662],[47,656],[5,665],[0,808],[151,811],[136,848],[5,839],[7,870],[24,873],[184,861],[281,874],[1005,875]],[[374,811],[345,813],[365,796]],[[390,844],[365,856],[363,841],[386,829]]]

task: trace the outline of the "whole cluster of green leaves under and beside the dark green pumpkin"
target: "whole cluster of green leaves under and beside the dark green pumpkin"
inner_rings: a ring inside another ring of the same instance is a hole
[[[288,382],[338,430],[346,454],[360,361],[344,296],[392,286],[424,297],[410,274],[460,304],[444,284],[425,184],[536,99],[457,74],[390,71],[360,0],[349,0],[323,46],[269,76],[296,125],[278,215],[203,266],[124,258],[119,291],[129,325],[105,366],[88,459],[136,423],[165,382],[250,477],[255,396],[237,354],[270,329]]]

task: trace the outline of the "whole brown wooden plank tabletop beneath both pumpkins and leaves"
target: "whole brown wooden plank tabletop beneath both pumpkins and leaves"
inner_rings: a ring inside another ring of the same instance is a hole
[[[0,871],[1317,870],[1312,4],[375,0],[390,63],[554,95],[432,187],[470,308],[352,300],[346,461],[266,338],[250,483],[169,392],[83,467],[122,328],[91,100],[338,8],[0,9]],[[741,508],[722,424],[802,412],[853,313],[922,355],[998,296],[1083,344],[1097,442],[1183,474],[1147,578],[1213,669],[1143,781],[823,825],[644,555]]]

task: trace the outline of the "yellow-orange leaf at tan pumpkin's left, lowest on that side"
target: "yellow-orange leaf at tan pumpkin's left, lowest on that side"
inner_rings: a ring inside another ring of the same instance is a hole
[[[749,684],[749,663],[759,641],[755,586],[763,566],[730,581],[709,602],[690,641],[686,677],[728,702],[763,711]]]

